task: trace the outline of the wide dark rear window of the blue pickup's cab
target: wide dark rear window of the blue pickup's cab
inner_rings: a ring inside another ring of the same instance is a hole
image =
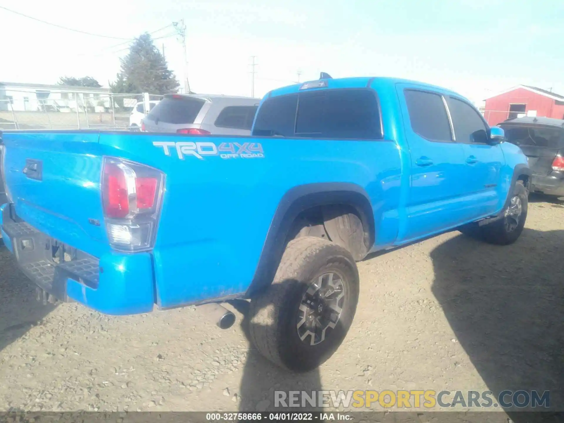
[[[381,139],[380,107],[372,89],[328,89],[266,99],[253,135]]]

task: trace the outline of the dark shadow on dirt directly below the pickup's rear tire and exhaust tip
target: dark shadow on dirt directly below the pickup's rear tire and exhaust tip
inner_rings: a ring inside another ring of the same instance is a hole
[[[249,312],[249,303],[246,301],[233,301],[231,305],[244,316],[241,321],[241,328],[245,337],[249,341],[251,348],[254,348],[250,341],[249,327],[252,325],[253,316]],[[312,407],[306,403],[305,407],[288,407],[275,402],[275,391],[283,391],[289,396],[289,391],[306,391],[311,395],[312,391],[320,391],[321,377],[319,368],[307,373],[292,373],[265,359],[257,350],[249,351],[241,378],[241,402],[240,411],[292,411],[292,412],[315,412],[322,411],[323,408]],[[286,398],[289,405],[289,398]]]

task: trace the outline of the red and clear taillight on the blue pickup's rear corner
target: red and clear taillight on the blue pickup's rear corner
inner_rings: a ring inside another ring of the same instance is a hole
[[[160,170],[104,157],[100,186],[108,240],[114,250],[138,252],[153,248],[164,184]]]

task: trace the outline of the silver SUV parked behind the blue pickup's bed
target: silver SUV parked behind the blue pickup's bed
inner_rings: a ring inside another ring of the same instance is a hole
[[[167,94],[143,118],[142,130],[179,134],[250,135],[259,99]]]

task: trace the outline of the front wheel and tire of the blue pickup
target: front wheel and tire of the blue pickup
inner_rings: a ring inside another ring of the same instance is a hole
[[[516,207],[520,210],[517,221],[515,221],[514,214],[511,213]],[[523,232],[523,227],[525,227],[525,221],[527,219],[527,209],[528,192],[525,186],[523,186],[523,183],[518,180],[513,188],[509,205],[501,212],[501,219],[485,224],[484,226],[478,226],[477,223],[470,223],[459,228],[459,231],[490,244],[513,244],[517,241],[521,232]]]

